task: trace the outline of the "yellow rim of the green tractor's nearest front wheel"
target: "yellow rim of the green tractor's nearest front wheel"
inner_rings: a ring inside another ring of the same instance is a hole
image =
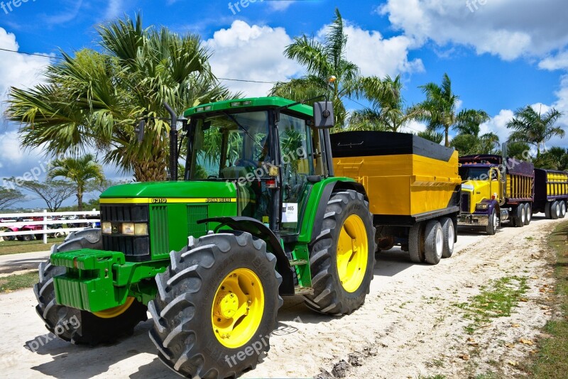
[[[264,313],[264,290],[256,273],[238,268],[222,280],[215,292],[211,321],[219,343],[244,346],[256,334]]]

